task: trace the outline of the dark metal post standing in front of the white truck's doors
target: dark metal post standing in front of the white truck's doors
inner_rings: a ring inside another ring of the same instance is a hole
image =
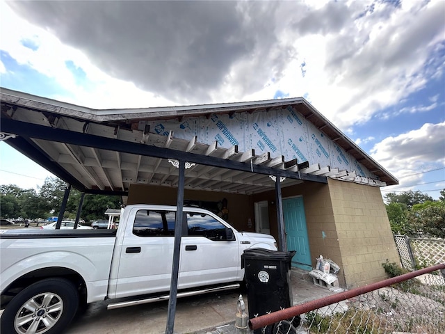
[[[170,281],[170,299],[168,299],[167,326],[165,334],[172,334],[175,326],[176,299],[178,292],[178,276],[179,276],[179,255],[181,253],[181,236],[183,214],[182,207],[184,205],[184,160],[179,160],[179,180],[178,180],[178,197],[177,211],[175,220],[175,246],[173,247],[173,264],[172,264],[172,280]]]

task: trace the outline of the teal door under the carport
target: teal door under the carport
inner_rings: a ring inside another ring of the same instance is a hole
[[[309,252],[309,237],[307,236],[303,198],[284,199],[283,216],[287,250],[296,250],[296,255],[292,258],[292,267],[311,270],[311,253]]]

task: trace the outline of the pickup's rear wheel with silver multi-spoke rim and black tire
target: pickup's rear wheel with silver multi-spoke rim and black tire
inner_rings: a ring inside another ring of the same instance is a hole
[[[61,333],[76,314],[79,294],[69,280],[47,278],[23,289],[1,315],[1,333]]]

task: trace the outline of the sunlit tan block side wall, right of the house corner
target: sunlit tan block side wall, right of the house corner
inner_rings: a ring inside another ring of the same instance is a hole
[[[398,263],[399,257],[380,189],[332,179],[328,184],[346,287],[384,280],[382,263]]]

